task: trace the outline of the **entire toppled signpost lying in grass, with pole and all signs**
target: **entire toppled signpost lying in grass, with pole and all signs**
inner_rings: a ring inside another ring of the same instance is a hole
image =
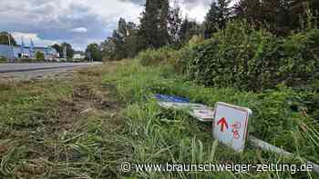
[[[217,103],[215,110],[203,104],[190,104],[186,98],[180,98],[170,95],[157,94],[155,98],[161,107],[176,110],[188,110],[188,114],[203,122],[212,122],[212,133],[221,143],[232,147],[237,152],[243,152],[247,140],[249,117],[252,110],[232,104]],[[190,110],[192,109],[192,110]],[[272,144],[268,144],[253,136],[249,137],[252,146],[261,148],[263,151],[269,151],[276,154],[293,156]],[[300,158],[297,156],[300,160]],[[314,172],[319,174],[319,165],[307,161],[307,164],[313,164]]]

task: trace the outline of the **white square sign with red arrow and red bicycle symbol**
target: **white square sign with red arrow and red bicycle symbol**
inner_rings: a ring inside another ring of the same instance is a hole
[[[252,110],[232,104],[217,103],[213,123],[213,136],[222,144],[242,152],[247,137],[249,116]]]

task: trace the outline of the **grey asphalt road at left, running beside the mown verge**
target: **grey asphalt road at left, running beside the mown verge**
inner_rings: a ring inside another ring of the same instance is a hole
[[[0,64],[0,80],[29,80],[46,76],[58,76],[75,69],[102,63],[34,63]]]

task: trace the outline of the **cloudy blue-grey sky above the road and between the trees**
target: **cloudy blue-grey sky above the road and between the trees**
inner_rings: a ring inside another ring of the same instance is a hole
[[[0,31],[24,36],[29,45],[68,42],[77,50],[101,42],[116,29],[118,18],[139,23],[145,0],[0,0]],[[202,21],[211,0],[180,0],[183,15]]]

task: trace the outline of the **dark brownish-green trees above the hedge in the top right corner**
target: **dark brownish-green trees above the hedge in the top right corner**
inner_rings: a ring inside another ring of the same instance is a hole
[[[245,18],[256,27],[267,28],[274,35],[289,35],[292,30],[303,29],[311,19],[317,24],[316,0],[241,0],[235,5],[235,15]],[[307,6],[309,5],[309,6]],[[309,8],[308,8],[309,7]],[[311,9],[311,13],[308,12]]]

